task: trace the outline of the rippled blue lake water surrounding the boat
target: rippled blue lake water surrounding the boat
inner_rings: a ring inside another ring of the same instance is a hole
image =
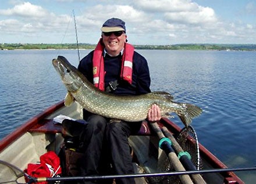
[[[81,57],[90,50],[80,50]],[[137,50],[147,60],[152,91],[203,109],[193,120],[198,139],[228,167],[256,164],[256,53]],[[63,100],[66,89],[51,60],[77,66],[77,50],[0,50],[0,139],[29,118]],[[178,125],[180,120],[173,118]],[[237,172],[254,183],[255,171]]]

